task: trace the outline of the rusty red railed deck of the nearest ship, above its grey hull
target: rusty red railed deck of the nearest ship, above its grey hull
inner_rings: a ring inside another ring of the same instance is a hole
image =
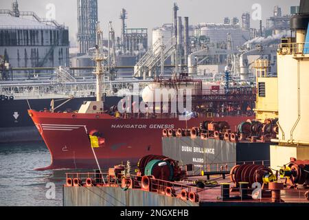
[[[222,179],[220,175],[214,176],[215,178],[206,182],[205,187],[199,188],[192,181],[192,177],[191,180],[187,178],[182,181],[165,181],[150,176],[145,186],[143,177],[138,175],[117,175],[120,179],[111,179],[108,173],[67,173],[65,187],[119,187],[123,190],[133,188],[192,202],[309,203],[308,190],[305,188],[273,189],[267,184],[262,186],[258,183],[256,186],[242,187],[233,184],[229,179]],[[284,179],[279,181],[283,182]]]

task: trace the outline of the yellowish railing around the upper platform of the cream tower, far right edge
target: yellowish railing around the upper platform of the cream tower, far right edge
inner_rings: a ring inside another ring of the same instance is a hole
[[[309,43],[280,43],[278,54],[305,56],[309,54]]]

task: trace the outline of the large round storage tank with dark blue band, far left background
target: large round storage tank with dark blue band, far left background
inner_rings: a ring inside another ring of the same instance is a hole
[[[55,23],[47,24],[36,19],[14,16],[14,13],[1,14],[0,20],[0,54],[5,56],[10,67],[69,66],[67,28]],[[54,53],[49,54],[51,47]],[[36,71],[38,73],[40,72]],[[26,70],[19,70],[13,77],[23,78],[28,77],[28,74]]]

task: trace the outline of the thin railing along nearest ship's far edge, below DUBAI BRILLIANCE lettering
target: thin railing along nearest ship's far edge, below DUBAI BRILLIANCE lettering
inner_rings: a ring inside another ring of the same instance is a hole
[[[207,175],[207,172],[223,172],[231,170],[233,166],[240,164],[261,164],[264,166],[270,166],[270,160],[252,160],[252,161],[240,161],[240,162],[222,162],[222,163],[196,163],[192,164],[193,170],[190,171],[192,175]],[[187,165],[179,165],[185,167]],[[227,176],[227,175],[225,175]],[[209,179],[209,178],[208,178]]]

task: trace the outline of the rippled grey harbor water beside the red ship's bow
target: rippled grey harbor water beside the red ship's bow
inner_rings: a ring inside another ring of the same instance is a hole
[[[0,206],[62,206],[67,170],[34,170],[50,160],[44,142],[0,144]]]

